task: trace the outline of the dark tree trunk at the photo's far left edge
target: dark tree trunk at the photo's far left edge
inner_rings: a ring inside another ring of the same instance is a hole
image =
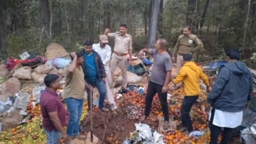
[[[0,53],[5,52],[4,47],[4,19],[3,19],[3,0],[0,0]]]

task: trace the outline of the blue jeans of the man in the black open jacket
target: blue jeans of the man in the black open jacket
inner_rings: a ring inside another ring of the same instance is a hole
[[[106,97],[106,86],[105,82],[103,82],[101,79],[97,78],[94,80],[86,80],[86,82],[92,86],[96,86],[98,88],[98,91],[100,93],[99,98],[99,109],[102,109],[104,107],[104,100]],[[86,88],[87,92],[87,100],[88,100],[88,106],[90,106],[90,90]]]

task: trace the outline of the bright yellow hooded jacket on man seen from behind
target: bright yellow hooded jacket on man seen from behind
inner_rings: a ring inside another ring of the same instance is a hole
[[[186,96],[198,96],[201,92],[200,82],[202,79],[206,86],[209,86],[207,76],[194,62],[188,62],[182,66],[180,73],[172,80],[174,84],[179,84],[183,81]]]

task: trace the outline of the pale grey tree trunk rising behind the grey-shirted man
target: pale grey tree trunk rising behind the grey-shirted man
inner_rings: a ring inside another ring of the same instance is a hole
[[[149,48],[152,48],[156,43],[156,30],[157,30],[157,19],[159,12],[159,0],[152,0],[152,10],[150,14],[148,44]]]

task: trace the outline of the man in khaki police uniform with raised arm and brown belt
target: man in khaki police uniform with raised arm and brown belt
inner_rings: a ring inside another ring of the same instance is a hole
[[[110,62],[110,72],[113,78],[117,65],[120,65],[122,72],[122,88],[127,88],[127,54],[132,60],[132,36],[127,34],[127,25],[120,24],[119,32],[110,33],[106,28],[104,34],[110,38],[115,38],[114,51]],[[129,62],[130,63],[130,62]]]

